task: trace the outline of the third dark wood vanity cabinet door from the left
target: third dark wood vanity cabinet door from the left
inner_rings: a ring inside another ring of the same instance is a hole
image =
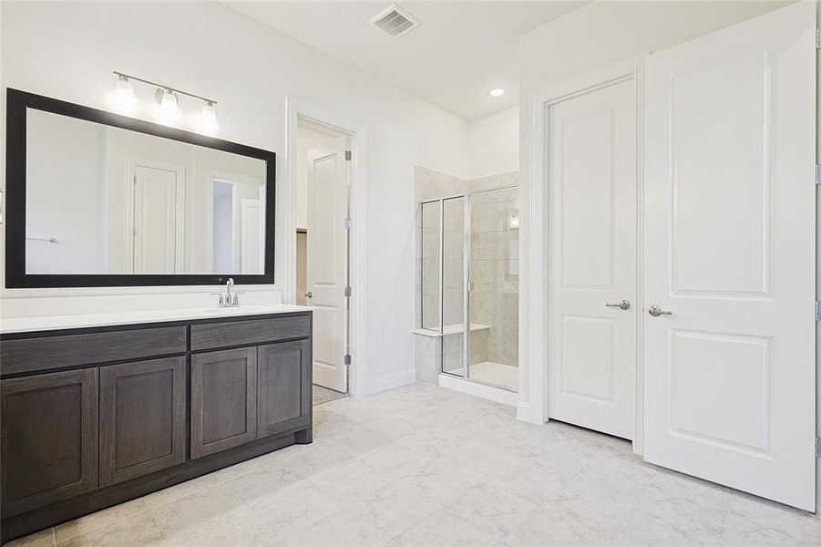
[[[191,356],[191,459],[256,439],[257,348]]]

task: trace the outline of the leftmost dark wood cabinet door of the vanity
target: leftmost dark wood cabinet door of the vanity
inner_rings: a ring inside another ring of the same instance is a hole
[[[2,511],[97,489],[97,368],[0,382]]]

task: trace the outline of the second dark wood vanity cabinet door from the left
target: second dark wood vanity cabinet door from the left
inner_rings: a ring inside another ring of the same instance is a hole
[[[100,487],[185,461],[185,357],[100,368]]]

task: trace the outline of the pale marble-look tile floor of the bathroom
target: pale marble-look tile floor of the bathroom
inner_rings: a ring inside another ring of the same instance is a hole
[[[821,518],[441,387],[314,408],[282,449],[9,545],[821,545]]]

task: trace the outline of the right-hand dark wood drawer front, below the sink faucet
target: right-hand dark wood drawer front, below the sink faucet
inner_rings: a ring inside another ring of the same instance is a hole
[[[307,338],[310,335],[311,315],[308,314],[191,325],[191,351],[251,346],[278,340]]]

